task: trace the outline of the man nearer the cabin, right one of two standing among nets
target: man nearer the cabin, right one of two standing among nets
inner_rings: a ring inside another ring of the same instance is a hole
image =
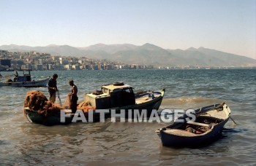
[[[68,94],[70,96],[70,109],[72,113],[75,113],[78,105],[78,87],[74,84],[73,80],[69,80],[69,85],[71,86],[71,93]]]

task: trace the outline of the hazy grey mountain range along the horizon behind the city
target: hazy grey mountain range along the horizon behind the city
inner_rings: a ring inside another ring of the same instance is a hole
[[[256,60],[204,47],[187,50],[165,50],[154,44],[95,44],[89,47],[48,45],[29,47],[15,44],[2,45],[0,50],[37,51],[51,55],[108,59],[122,63],[136,63],[154,66],[211,66],[211,67],[255,67]]]

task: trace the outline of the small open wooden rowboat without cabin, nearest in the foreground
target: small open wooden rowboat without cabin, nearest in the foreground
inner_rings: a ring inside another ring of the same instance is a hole
[[[195,122],[174,122],[156,130],[163,146],[203,146],[217,140],[230,119],[230,108],[215,104],[195,110]]]

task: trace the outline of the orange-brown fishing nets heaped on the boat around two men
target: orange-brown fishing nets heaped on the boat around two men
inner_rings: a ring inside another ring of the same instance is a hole
[[[29,110],[37,111],[37,114],[45,114],[45,116],[50,116],[53,114],[59,114],[61,109],[69,109],[69,103],[69,95],[67,95],[64,105],[60,106],[59,104],[51,103],[50,100],[45,97],[43,92],[32,90],[26,93],[24,108],[29,107]],[[89,110],[95,110],[95,108],[86,101],[80,103],[77,108],[83,110],[84,113],[87,113]],[[26,115],[26,111],[24,111],[24,114]]]

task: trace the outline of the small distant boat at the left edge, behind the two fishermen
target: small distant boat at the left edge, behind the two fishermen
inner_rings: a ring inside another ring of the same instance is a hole
[[[7,82],[0,82],[0,87],[46,87],[50,77],[40,80],[31,80],[31,74],[29,70],[23,71],[23,76],[18,75],[18,71],[14,74],[15,78],[7,79]]]

